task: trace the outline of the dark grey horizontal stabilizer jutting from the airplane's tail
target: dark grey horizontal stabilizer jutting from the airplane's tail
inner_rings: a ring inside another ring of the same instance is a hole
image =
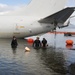
[[[70,15],[74,12],[75,7],[67,7],[55,14],[52,14],[44,19],[39,20],[40,23],[50,23],[53,24],[56,23],[64,23]]]

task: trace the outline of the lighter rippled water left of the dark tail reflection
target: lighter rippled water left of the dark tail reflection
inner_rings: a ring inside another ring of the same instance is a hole
[[[47,70],[42,64],[38,52],[23,39],[18,40],[18,47],[11,48],[11,39],[0,39],[0,75],[58,75]],[[25,52],[25,46],[31,51]]]

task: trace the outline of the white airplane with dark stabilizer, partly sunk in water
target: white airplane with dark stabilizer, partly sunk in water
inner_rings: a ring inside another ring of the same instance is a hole
[[[24,38],[62,27],[74,7],[64,8],[67,0],[31,0],[18,10],[0,15],[0,38]]]

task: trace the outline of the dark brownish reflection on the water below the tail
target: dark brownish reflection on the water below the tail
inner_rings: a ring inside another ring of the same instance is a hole
[[[67,73],[67,69],[64,66],[65,60],[63,52],[56,51],[54,48],[50,47],[47,50],[38,51],[38,55],[40,56],[40,60],[43,61],[43,64],[46,65],[47,68],[50,68],[57,73]]]

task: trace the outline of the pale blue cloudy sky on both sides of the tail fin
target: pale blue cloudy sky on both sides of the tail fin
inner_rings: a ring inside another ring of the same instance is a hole
[[[17,8],[28,4],[30,1],[31,0],[0,0],[0,14],[16,10]],[[75,0],[67,0],[65,6],[75,7]],[[75,15],[75,13],[73,15]]]

